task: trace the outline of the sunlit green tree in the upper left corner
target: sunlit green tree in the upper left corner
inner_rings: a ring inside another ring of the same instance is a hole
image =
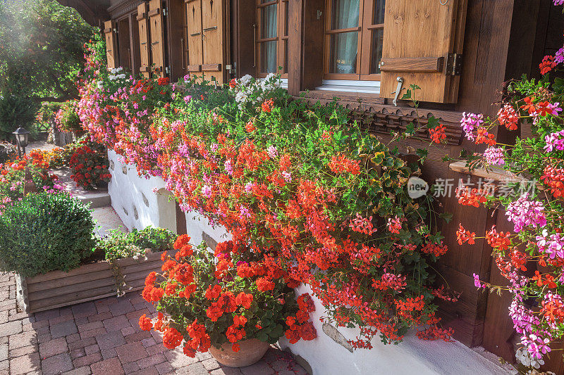
[[[0,136],[29,125],[43,101],[78,97],[83,45],[97,27],[54,0],[0,0]]]

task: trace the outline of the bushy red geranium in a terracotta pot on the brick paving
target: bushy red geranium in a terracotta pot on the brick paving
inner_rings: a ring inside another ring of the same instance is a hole
[[[166,348],[185,341],[185,355],[209,350],[219,363],[243,367],[284,333],[292,342],[316,337],[311,298],[295,298],[298,283],[274,258],[231,241],[219,243],[214,253],[205,242],[195,248],[188,241],[187,235],[176,239],[176,256],[162,257],[162,273],[149,274],[142,293],[159,313],[154,321],[140,317],[140,327],[163,332]]]

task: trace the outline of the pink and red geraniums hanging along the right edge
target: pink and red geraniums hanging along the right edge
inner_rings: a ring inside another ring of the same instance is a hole
[[[555,1],[555,5],[562,1]],[[564,336],[564,81],[548,72],[564,63],[564,46],[539,65],[543,78],[511,82],[508,98],[494,117],[465,113],[461,126],[467,139],[486,144],[483,153],[467,160],[476,167],[503,168],[513,173],[508,186],[458,190],[462,205],[502,208],[513,231],[494,225],[486,241],[508,286],[494,286],[474,274],[477,288],[507,290],[513,295],[509,316],[520,334],[516,357],[525,367],[538,369],[553,343]],[[532,136],[515,144],[499,144],[496,127],[515,131],[529,124]],[[522,182],[519,182],[522,180]],[[527,186],[524,186],[526,183]],[[524,189],[525,187],[525,189]],[[476,234],[460,224],[458,243],[474,243]]]

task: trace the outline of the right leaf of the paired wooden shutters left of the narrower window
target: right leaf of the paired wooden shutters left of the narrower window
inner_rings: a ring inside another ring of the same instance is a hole
[[[202,0],[202,73],[206,80],[223,84],[228,58],[228,12],[224,0]]]

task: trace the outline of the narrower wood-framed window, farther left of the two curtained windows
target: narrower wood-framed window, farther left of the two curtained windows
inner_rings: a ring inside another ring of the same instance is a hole
[[[288,0],[257,0],[257,77],[288,75]],[[278,67],[282,67],[278,70]]]

